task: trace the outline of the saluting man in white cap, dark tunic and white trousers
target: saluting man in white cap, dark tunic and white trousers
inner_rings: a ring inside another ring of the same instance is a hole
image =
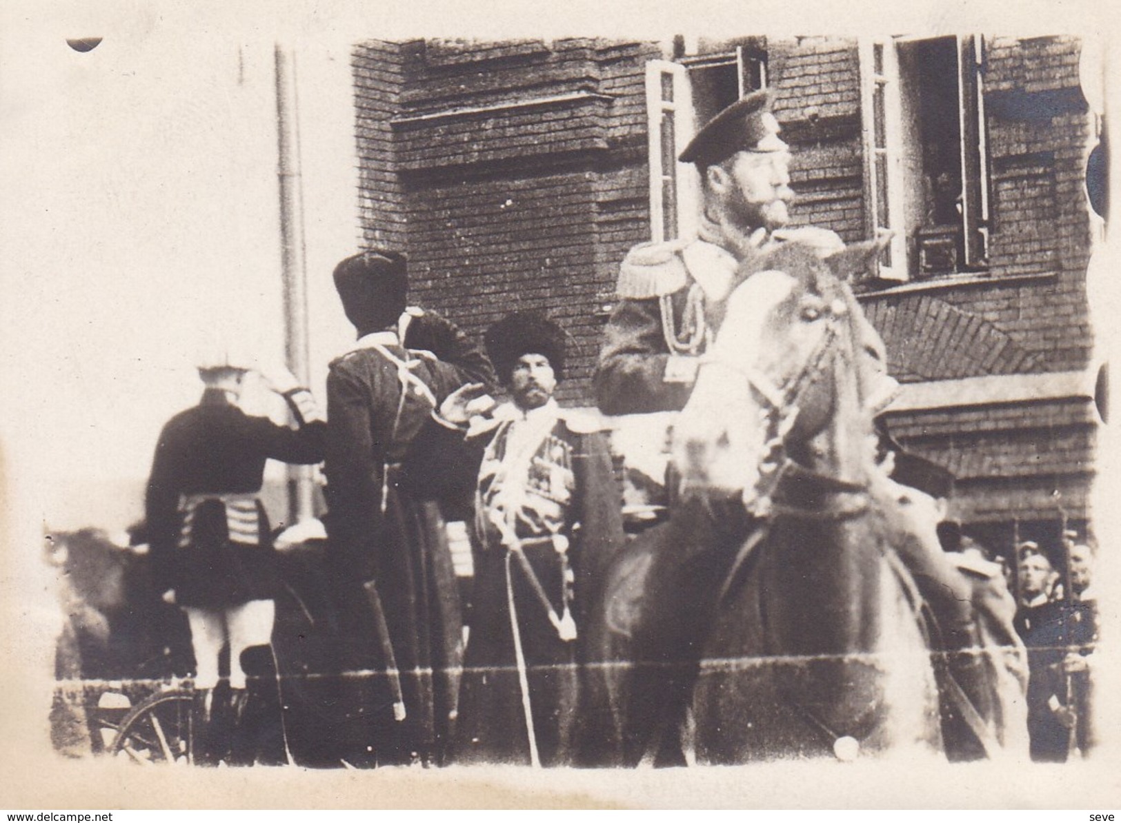
[[[326,434],[311,392],[284,368],[263,376],[288,402],[297,428],[245,414],[238,400],[248,371],[248,363],[224,352],[200,364],[206,390],[198,405],[175,415],[160,432],[146,498],[155,582],[187,614],[202,719],[214,720],[205,751],[196,752],[201,761],[279,756],[269,649],[279,580],[259,494],[268,459],[316,464]],[[224,708],[232,714],[214,704],[225,644],[231,692]],[[256,676],[247,677],[247,668]],[[233,752],[222,739],[226,732],[235,738]]]

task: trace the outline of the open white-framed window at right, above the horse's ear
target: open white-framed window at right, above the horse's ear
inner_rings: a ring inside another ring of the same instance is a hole
[[[868,228],[893,233],[879,277],[985,269],[982,38],[869,39],[860,56]]]

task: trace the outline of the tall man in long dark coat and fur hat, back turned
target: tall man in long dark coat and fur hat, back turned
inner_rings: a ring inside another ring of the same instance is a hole
[[[437,501],[444,478],[410,452],[432,412],[469,378],[485,381],[489,363],[435,316],[406,333],[430,348],[401,345],[402,255],[358,254],[334,279],[358,331],[327,376],[326,527],[341,606],[340,704],[349,712],[334,735],[351,765],[439,763],[463,625]]]

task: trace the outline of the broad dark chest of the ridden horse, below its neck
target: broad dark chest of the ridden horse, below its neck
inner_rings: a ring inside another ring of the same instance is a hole
[[[814,485],[789,493],[816,496]],[[846,494],[825,490],[822,511]],[[694,694],[701,759],[941,748],[917,597],[889,559],[893,526],[878,506],[858,505],[867,508],[782,514],[763,526],[703,646]]]

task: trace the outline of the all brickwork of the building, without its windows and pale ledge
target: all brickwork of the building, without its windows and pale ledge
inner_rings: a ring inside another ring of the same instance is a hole
[[[767,52],[794,149],[795,225],[862,240],[855,41],[770,38]],[[573,335],[566,404],[591,403],[619,261],[650,235],[645,66],[666,57],[654,43],[586,38],[354,49],[364,242],[406,249],[415,299],[471,333],[511,309],[560,320]],[[1068,37],[986,39],[988,279],[862,298],[897,377],[1086,365],[1092,122],[1077,57]],[[986,406],[892,422],[958,474],[971,517],[1051,517],[1063,501],[1084,515],[1093,423],[1062,403],[1026,414]]]

